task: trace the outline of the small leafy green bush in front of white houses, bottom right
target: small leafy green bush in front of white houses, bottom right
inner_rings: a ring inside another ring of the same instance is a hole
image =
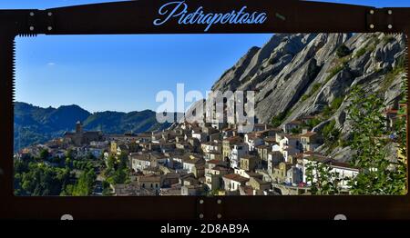
[[[305,164],[306,180],[310,184],[313,195],[335,195],[341,192],[340,174],[332,172],[332,167],[328,164],[313,161]]]

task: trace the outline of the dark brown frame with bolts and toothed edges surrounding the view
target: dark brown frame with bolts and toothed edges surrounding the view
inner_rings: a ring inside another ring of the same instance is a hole
[[[203,25],[154,26],[167,1],[138,0],[46,10],[0,10],[0,219],[289,220],[410,219],[404,196],[235,196],[235,197],[16,197],[13,195],[15,36],[203,34]],[[216,33],[405,33],[410,8],[374,8],[295,0],[187,0],[192,9],[231,12],[242,5],[268,13],[263,25],[213,25]],[[371,27],[371,25],[373,27]],[[390,25],[390,27],[389,27]],[[410,46],[407,43],[407,47]],[[407,55],[407,66],[408,66]],[[408,116],[407,116],[408,118]],[[407,119],[408,124],[408,119]],[[407,130],[407,142],[408,142]],[[407,157],[408,157],[407,144]],[[200,203],[203,200],[204,203]],[[219,203],[220,202],[220,203]]]

